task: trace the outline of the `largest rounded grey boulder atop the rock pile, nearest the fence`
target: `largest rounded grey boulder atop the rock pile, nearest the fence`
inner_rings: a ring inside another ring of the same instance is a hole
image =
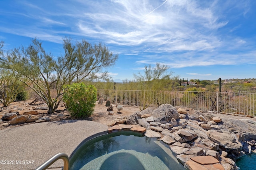
[[[172,118],[179,119],[179,113],[170,104],[163,104],[153,111],[152,116],[155,122],[168,123]]]

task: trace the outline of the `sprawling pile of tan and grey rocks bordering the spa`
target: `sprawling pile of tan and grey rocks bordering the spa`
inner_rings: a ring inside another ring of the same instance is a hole
[[[213,114],[216,113],[188,114],[182,107],[163,104],[155,110],[136,111],[111,121],[108,133],[131,130],[159,138],[187,170],[238,169],[235,159],[256,151],[256,121],[246,119],[250,121],[248,125],[243,120],[223,118],[225,123]],[[241,127],[232,129],[232,123]],[[250,126],[250,132],[244,132],[243,126]]]

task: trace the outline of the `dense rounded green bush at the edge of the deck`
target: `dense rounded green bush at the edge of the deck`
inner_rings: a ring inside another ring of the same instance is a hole
[[[74,83],[64,85],[63,101],[74,118],[90,117],[97,100],[97,89],[93,85]]]

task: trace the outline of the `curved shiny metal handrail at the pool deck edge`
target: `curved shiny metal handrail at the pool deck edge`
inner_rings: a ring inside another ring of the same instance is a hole
[[[62,159],[64,162],[63,170],[68,170],[69,158],[68,158],[68,155],[65,153],[59,153],[59,154],[52,156],[52,158],[50,158],[49,160],[44,162],[42,165],[38,166],[38,168],[36,168],[36,170],[46,170],[49,166],[51,166],[54,162],[56,162],[59,159]]]

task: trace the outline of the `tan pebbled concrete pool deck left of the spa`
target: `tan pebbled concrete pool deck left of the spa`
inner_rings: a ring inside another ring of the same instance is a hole
[[[0,169],[35,169],[55,154],[66,153],[70,156],[86,138],[107,134],[107,131],[106,125],[77,120],[7,127],[0,130]],[[62,166],[63,161],[58,160],[50,167]]]

